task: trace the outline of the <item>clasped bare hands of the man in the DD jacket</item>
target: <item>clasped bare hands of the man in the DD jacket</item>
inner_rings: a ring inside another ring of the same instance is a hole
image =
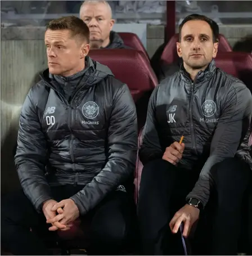
[[[72,199],[65,199],[59,203],[48,200],[43,205],[43,213],[46,222],[52,224],[50,231],[69,230],[75,219],[79,217],[79,209]]]

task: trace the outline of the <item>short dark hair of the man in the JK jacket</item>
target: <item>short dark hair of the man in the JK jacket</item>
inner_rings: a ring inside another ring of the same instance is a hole
[[[206,17],[204,15],[200,15],[200,14],[191,14],[191,15],[185,17],[185,19],[183,19],[182,23],[179,25],[179,42],[181,42],[181,30],[183,28],[183,25],[185,25],[187,23],[187,21],[190,21],[190,20],[203,20],[206,23],[208,23],[213,32],[213,42],[214,43],[219,42],[219,26],[218,26],[218,24],[215,23],[214,20],[209,19],[208,17]]]

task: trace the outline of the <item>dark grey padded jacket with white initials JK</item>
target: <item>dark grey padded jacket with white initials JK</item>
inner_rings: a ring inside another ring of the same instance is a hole
[[[185,69],[167,77],[152,93],[140,159],[143,164],[161,159],[166,147],[185,136],[185,151],[178,167],[200,170],[199,180],[187,198],[209,199],[213,165],[226,158],[246,161],[252,97],[239,79],[209,64],[194,82]]]

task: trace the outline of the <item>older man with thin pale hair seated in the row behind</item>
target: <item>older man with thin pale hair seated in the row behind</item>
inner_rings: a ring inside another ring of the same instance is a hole
[[[123,39],[112,31],[115,20],[112,10],[104,0],[87,0],[80,7],[80,19],[88,25],[90,30],[90,47],[98,48],[130,48],[125,46]]]

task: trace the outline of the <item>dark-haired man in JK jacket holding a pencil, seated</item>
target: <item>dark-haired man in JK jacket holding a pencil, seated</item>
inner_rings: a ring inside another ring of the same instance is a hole
[[[182,68],[150,98],[138,200],[144,254],[184,254],[181,235],[188,237],[198,220],[195,248],[204,251],[193,253],[238,252],[242,200],[252,167],[252,97],[244,83],[215,66],[217,50],[213,21],[186,17],[177,43]]]

